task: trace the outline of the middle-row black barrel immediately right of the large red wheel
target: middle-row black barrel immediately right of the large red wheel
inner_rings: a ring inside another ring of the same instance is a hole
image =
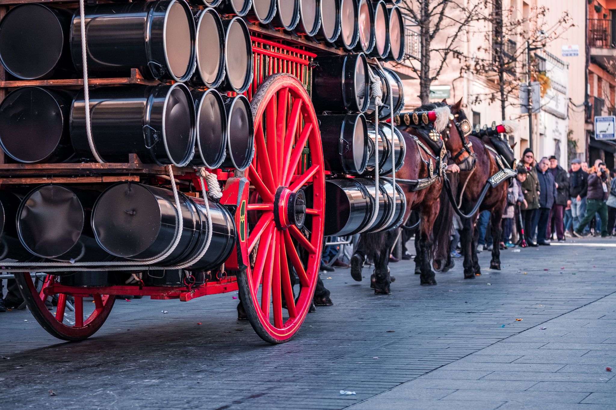
[[[361,175],[368,163],[368,128],[363,114],[317,116],[327,170]]]

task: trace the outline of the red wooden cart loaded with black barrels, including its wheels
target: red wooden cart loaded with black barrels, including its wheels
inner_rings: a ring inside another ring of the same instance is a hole
[[[253,2],[0,0],[2,271],[55,337],[91,336],[118,295],[238,291],[285,342],[323,237],[401,222],[378,181],[404,157],[378,125],[403,105],[377,62],[403,57],[399,9]]]

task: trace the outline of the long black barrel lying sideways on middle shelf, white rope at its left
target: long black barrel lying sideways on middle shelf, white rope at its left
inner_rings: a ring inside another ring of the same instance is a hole
[[[103,87],[90,90],[92,137],[107,162],[126,162],[131,153],[144,164],[188,164],[195,148],[195,106],[184,84]],[[73,100],[73,148],[92,159],[87,143],[83,90]]]

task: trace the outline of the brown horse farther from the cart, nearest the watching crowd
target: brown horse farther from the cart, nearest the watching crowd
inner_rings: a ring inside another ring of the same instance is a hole
[[[455,121],[458,123],[466,119],[466,115],[461,109],[461,103],[462,100],[452,106],[452,114],[455,116]],[[486,148],[487,146],[491,146],[488,138],[479,139],[472,135],[463,136],[463,138],[466,138],[468,142],[472,144],[472,150],[476,156],[476,164],[472,169],[461,166],[459,183],[452,183],[452,188],[455,190],[453,194],[456,200],[460,201],[461,198],[460,211],[468,215],[471,213],[476,203],[481,200],[480,197],[484,187],[488,183],[488,178],[495,175],[500,168],[496,163],[494,154],[489,152],[488,148]],[[459,164],[468,162],[463,156],[456,157],[454,155],[453,160]],[[508,187],[509,181],[504,181],[496,187],[490,186],[479,206],[479,211],[471,215],[470,218],[463,218],[463,230],[460,235],[460,243],[464,251],[465,279],[474,279],[475,275],[481,274],[479,260],[477,259],[477,239],[479,235],[477,232],[474,232],[474,226],[479,212],[481,211],[490,211],[491,213],[492,237],[495,241],[495,246],[492,246],[490,269],[500,270],[501,262],[498,242],[500,242],[501,237],[501,219],[503,218],[503,211],[507,205]],[[460,205],[460,203],[458,203],[458,205]]]

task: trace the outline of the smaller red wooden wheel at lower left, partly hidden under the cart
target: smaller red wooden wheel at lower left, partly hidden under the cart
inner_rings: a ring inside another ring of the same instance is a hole
[[[81,341],[96,333],[100,326],[105,323],[115,297],[113,295],[93,294],[94,303],[88,301],[84,307],[83,296],[75,296],[75,321],[71,321],[67,317],[67,294],[60,293],[58,295],[58,306],[55,314],[50,312],[45,306],[47,296],[43,290],[55,282],[56,277],[53,275],[47,276],[43,283],[43,289],[36,290],[34,281],[30,274],[15,274],[15,281],[19,285],[23,299],[30,312],[38,321],[39,325],[43,326],[47,332],[58,339],[65,341]],[[81,292],[80,288],[76,288],[76,292]],[[90,313],[90,310],[92,312]]]

